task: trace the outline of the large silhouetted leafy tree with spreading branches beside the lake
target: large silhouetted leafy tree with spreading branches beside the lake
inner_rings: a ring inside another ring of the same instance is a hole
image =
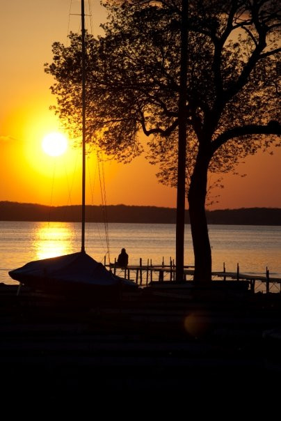
[[[104,36],[87,36],[88,141],[119,160],[143,151],[159,163],[163,183],[177,183],[182,2],[107,4]],[[207,173],[232,171],[248,154],[266,149],[278,123],[278,0],[189,0],[186,185],[198,281],[211,280],[205,215]],[[46,70],[57,83],[57,112],[78,135],[81,40],[54,43]]]

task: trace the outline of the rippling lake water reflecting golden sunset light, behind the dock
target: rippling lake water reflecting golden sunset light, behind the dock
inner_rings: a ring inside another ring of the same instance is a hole
[[[0,282],[15,284],[8,270],[37,259],[80,250],[80,224],[71,222],[0,221]],[[265,275],[266,266],[273,277],[281,277],[281,227],[209,225],[213,270]],[[175,259],[174,224],[109,224],[111,261],[125,247],[129,264],[153,264]],[[190,226],[186,225],[185,264],[193,265]],[[104,225],[86,224],[86,251],[97,261],[107,252]]]

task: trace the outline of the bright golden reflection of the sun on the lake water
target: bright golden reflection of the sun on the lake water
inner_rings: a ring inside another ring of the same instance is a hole
[[[33,247],[36,259],[48,259],[72,253],[74,247],[70,224],[42,222],[35,231]]]

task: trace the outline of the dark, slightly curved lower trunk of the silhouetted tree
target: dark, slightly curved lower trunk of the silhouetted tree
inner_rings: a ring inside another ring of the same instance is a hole
[[[211,247],[205,213],[209,157],[198,152],[188,192],[189,216],[195,257],[194,281],[211,281]]]

